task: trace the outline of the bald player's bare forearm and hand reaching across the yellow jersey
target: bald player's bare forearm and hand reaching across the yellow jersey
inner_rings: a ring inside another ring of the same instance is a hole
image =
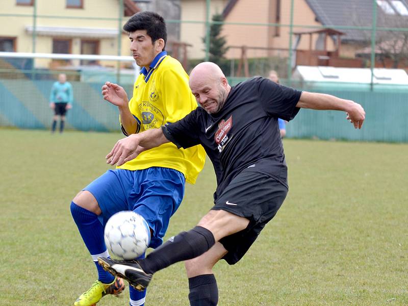
[[[118,166],[135,159],[142,151],[170,142],[161,128],[147,130],[139,134],[132,134],[116,142],[113,149],[106,156],[107,164]]]

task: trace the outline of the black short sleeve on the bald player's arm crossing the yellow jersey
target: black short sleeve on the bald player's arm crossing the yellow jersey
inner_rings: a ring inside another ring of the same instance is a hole
[[[197,110],[192,111],[183,119],[162,126],[164,136],[178,148],[187,149],[200,144]]]

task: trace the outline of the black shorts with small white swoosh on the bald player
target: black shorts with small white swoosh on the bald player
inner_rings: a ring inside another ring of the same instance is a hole
[[[258,238],[281,207],[288,189],[272,177],[251,171],[242,171],[215,201],[212,210],[224,210],[249,219],[249,224],[238,233],[220,239],[228,251],[223,259],[230,265],[237,263]]]

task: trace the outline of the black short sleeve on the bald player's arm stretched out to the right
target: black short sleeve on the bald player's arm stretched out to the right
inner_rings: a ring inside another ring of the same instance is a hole
[[[265,112],[286,121],[292,120],[299,112],[296,104],[301,91],[276,84],[269,79],[260,78],[258,82],[258,95]]]

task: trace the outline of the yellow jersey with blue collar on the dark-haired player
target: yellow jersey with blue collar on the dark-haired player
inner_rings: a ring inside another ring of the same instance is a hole
[[[140,133],[157,129],[167,122],[184,118],[197,107],[188,85],[188,74],[179,61],[159,53],[150,64],[142,68],[133,88],[129,109],[137,121]],[[122,131],[125,135],[122,127]],[[141,170],[150,167],[171,168],[182,172],[186,181],[194,184],[202,170],[206,152],[201,145],[177,149],[173,143],[143,151],[137,158],[117,168]]]

